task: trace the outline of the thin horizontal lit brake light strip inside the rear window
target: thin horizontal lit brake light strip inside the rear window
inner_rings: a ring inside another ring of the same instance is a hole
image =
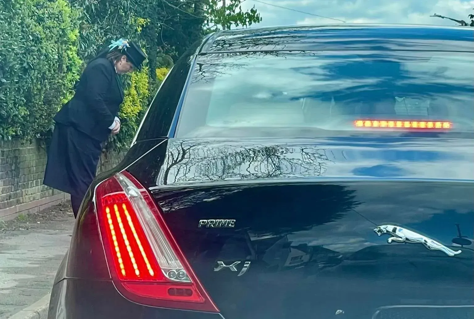
[[[388,120],[356,120],[356,127],[402,128],[402,129],[450,129],[453,127],[447,121],[388,121]]]

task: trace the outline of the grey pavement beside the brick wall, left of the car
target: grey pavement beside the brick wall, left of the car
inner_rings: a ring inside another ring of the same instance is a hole
[[[51,292],[73,225],[68,204],[0,221],[0,319]]]

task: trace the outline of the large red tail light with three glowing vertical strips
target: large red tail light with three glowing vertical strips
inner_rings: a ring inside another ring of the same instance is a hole
[[[95,191],[100,235],[119,292],[155,307],[219,312],[204,290],[162,212],[128,172]]]

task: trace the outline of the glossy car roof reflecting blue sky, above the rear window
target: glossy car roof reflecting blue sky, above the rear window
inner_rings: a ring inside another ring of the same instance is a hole
[[[465,27],[334,25],[225,31],[206,53],[248,51],[456,51],[474,52]]]

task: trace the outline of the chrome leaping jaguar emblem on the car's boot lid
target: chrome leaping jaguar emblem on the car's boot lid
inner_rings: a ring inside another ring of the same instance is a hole
[[[431,250],[441,250],[447,256],[453,257],[461,253],[461,250],[454,251],[453,249],[447,248],[445,245],[439,243],[436,240],[430,239],[426,236],[420,235],[414,231],[401,228],[394,225],[380,225],[374,228],[374,231],[378,236],[383,234],[389,234],[392,237],[387,239],[387,242],[390,244],[392,241],[398,243],[420,243],[423,244],[426,248]]]

